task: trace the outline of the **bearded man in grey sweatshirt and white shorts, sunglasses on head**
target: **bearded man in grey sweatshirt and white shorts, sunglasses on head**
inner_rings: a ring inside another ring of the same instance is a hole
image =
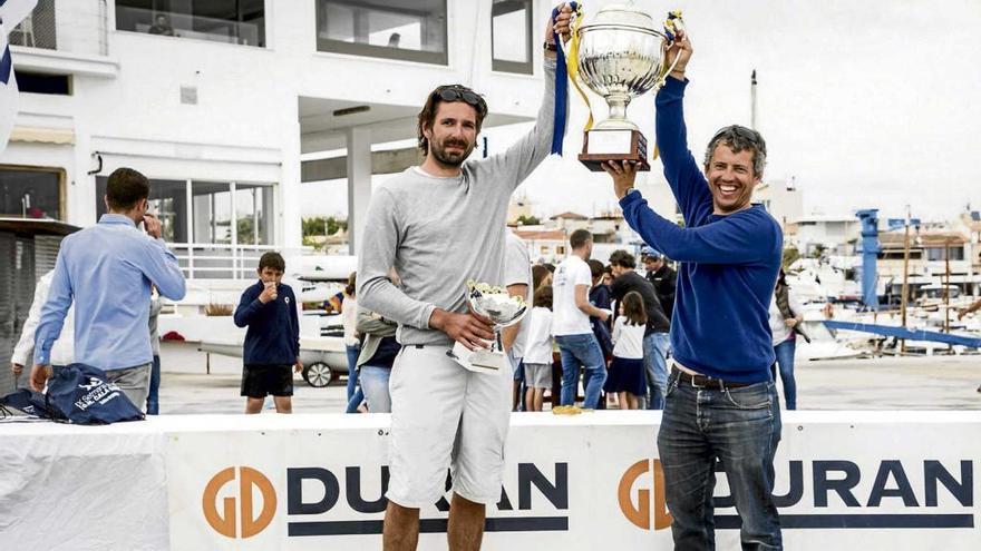
[[[554,29],[569,33],[564,6]],[[535,127],[503,154],[466,160],[487,115],[484,99],[440,86],[419,112],[421,166],[379,186],[366,219],[358,267],[360,306],[398,322],[392,367],[386,551],[414,550],[419,508],[436,503],[451,468],[449,549],[479,549],[485,505],[501,498],[511,420],[509,370],[476,373],[447,356],[494,338],[469,313],[466,282],[504,286],[505,218],[512,193],[548,155],[553,135],[555,45],[545,38],[545,90]],[[395,267],[401,287],[388,279]]]

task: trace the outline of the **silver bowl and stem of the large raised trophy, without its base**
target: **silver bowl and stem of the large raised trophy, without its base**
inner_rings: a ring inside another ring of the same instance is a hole
[[[580,77],[610,107],[610,117],[594,128],[637,130],[627,118],[627,106],[661,78],[668,37],[632,4],[601,9],[579,33]]]

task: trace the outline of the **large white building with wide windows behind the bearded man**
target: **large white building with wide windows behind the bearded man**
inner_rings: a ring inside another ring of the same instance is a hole
[[[264,248],[301,246],[301,155],[346,149],[349,193],[337,200],[348,200],[353,248],[372,146],[415,138],[434,87],[483,92],[485,128],[534,118],[550,10],[540,0],[39,0],[11,33],[22,94],[0,156],[0,215],[95,224],[107,176],[129,166],[153,180],[190,277],[242,276]]]

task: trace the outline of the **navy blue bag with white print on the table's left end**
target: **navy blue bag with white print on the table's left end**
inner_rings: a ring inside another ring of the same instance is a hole
[[[79,425],[144,419],[139,407],[115,383],[107,382],[103,370],[85,364],[56,367],[47,394],[21,388],[2,403],[29,415]]]

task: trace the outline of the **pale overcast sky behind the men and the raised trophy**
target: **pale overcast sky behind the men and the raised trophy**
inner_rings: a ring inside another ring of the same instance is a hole
[[[586,4],[586,18],[601,6]],[[765,180],[794,178],[805,213],[946,219],[981,209],[981,1],[744,0],[637,1],[661,19],[683,11],[695,48],[686,92],[689,147],[700,158],[712,134],[749,125],[750,75],[758,77],[757,127],[768,148]],[[598,119],[606,106],[591,98]],[[494,98],[488,98],[492,104]],[[615,204],[610,179],[582,167],[586,109],[572,98],[565,155],[551,157],[518,188],[536,214],[593,214]],[[628,116],[653,141],[653,95]],[[490,152],[530,124],[485,130]],[[660,163],[643,175],[663,183]],[[379,181],[383,177],[377,177]],[[342,183],[324,184],[344,194]],[[327,194],[337,197],[334,194]],[[336,200],[304,216],[344,215]]]

